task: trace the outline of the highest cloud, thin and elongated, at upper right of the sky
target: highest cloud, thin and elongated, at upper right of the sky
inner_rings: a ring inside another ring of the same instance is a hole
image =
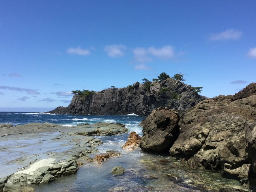
[[[239,30],[228,29],[224,32],[218,34],[211,34],[209,39],[211,41],[221,41],[221,40],[237,40],[241,37],[243,33]]]

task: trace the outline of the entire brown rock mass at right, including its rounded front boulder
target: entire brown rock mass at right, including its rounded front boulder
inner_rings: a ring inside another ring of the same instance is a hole
[[[140,125],[142,150],[169,153],[189,169],[223,171],[256,191],[256,83],[181,114],[158,108]]]

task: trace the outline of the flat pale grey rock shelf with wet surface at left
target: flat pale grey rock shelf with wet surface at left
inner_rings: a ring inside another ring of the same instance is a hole
[[[54,123],[1,124],[0,191],[38,185],[76,173],[80,160],[97,161],[101,140],[94,135],[127,132],[120,123],[66,127]],[[112,155],[118,155],[111,152]]]

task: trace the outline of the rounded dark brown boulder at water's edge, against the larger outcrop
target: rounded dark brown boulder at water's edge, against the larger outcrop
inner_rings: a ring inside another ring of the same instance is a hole
[[[144,119],[140,148],[144,151],[164,153],[179,134],[179,115],[176,110],[159,107]]]

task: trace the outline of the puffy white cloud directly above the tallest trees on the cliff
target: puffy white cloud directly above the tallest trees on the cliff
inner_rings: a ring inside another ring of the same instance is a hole
[[[168,45],[158,49],[150,47],[148,48],[148,53],[162,60],[167,60],[175,56],[174,48]]]

